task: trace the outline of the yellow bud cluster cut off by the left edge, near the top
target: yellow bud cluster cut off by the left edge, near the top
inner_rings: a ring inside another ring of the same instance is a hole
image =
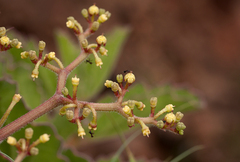
[[[7,51],[11,48],[21,48],[22,43],[19,42],[17,39],[10,39],[6,35],[6,28],[5,27],[0,27],[0,51]]]

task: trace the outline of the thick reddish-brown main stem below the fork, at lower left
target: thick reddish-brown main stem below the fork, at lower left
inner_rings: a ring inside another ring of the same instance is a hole
[[[7,126],[0,129],[0,141],[6,139],[8,136],[18,131],[22,127],[26,126],[28,123],[52,110],[53,108],[63,104],[61,101],[62,96],[59,94],[53,95],[50,99],[36,107],[35,109],[29,111],[18,119],[14,120]]]

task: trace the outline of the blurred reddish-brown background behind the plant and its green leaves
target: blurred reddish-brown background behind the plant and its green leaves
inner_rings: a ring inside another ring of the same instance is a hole
[[[201,109],[185,115],[184,136],[151,128],[150,138],[138,136],[131,143],[134,156],[160,161],[179,155],[176,146],[187,150],[204,145],[183,161],[239,161],[240,1],[1,0],[0,26],[44,40],[54,51],[54,30],[68,31],[68,16],[86,28],[81,10],[93,3],[112,13],[98,34],[119,25],[131,29],[112,78],[130,69],[137,82],[150,88],[166,83],[184,86],[204,102]],[[120,146],[116,137],[83,142],[78,150],[97,159],[111,156]]]

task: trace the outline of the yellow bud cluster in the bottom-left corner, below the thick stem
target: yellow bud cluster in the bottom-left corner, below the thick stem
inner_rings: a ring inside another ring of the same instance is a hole
[[[37,155],[39,153],[38,148],[36,146],[40,143],[46,143],[49,141],[50,135],[43,134],[41,135],[36,141],[30,144],[30,140],[33,136],[33,129],[27,128],[25,129],[25,138],[21,138],[18,141],[16,138],[9,136],[7,138],[7,143],[9,145],[15,146],[18,150],[18,154],[24,153],[25,156],[27,155]]]

